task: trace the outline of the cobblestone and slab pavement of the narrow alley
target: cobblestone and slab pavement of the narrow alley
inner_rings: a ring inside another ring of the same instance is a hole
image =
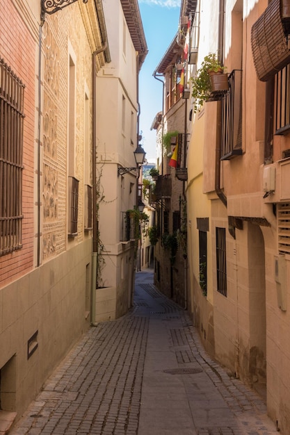
[[[269,435],[257,394],[209,358],[186,311],[137,272],[134,309],[92,327],[10,435]]]

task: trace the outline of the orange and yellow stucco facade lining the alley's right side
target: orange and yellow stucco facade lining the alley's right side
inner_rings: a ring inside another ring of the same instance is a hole
[[[184,16],[188,310],[207,350],[264,397],[286,434],[289,4],[188,0],[179,31]],[[191,78],[210,53],[228,88],[196,108]]]

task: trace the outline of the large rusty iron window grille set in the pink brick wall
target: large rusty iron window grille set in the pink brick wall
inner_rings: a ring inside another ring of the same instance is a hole
[[[24,84],[0,59],[0,255],[22,247]]]

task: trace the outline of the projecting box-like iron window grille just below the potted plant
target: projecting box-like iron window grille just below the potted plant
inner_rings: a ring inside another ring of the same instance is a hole
[[[229,74],[229,91],[223,97],[221,160],[241,156],[242,150],[242,71]]]

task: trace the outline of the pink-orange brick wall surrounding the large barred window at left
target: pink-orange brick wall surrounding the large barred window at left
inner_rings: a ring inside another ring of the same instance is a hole
[[[33,268],[33,167],[35,147],[35,58],[37,45],[12,1],[0,0],[0,58],[22,80],[24,90],[22,249],[0,256],[0,286]]]

